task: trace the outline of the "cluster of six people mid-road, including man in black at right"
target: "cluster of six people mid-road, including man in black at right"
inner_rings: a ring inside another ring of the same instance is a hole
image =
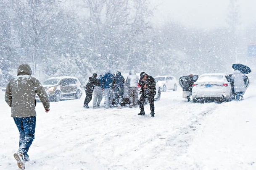
[[[124,76],[121,75],[120,71],[116,72],[116,75],[113,75],[111,71],[108,71],[105,75],[100,75],[98,77],[97,73],[93,73],[92,77],[89,77],[89,80],[84,86],[86,97],[84,99],[84,108],[89,108],[88,104],[92,100],[93,108],[99,108],[100,102],[103,99],[103,92],[105,95],[105,108],[116,106],[121,109],[123,103],[124,95],[124,84],[127,84],[129,87],[129,107],[137,107],[137,90],[138,85],[140,89],[140,113],[138,115],[145,115],[144,111],[144,102],[145,98],[148,98],[150,105],[150,114],[151,117],[155,115],[154,107],[154,96],[156,95],[156,82],[152,76],[149,76],[145,72],[140,73],[140,79],[136,75],[134,70],[129,71],[127,79],[124,79]]]

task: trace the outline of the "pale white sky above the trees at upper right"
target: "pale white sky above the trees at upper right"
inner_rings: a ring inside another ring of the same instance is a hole
[[[172,19],[187,26],[214,28],[226,26],[230,0],[150,0],[158,5],[153,21],[161,24]],[[256,0],[237,0],[242,26],[255,21]]]

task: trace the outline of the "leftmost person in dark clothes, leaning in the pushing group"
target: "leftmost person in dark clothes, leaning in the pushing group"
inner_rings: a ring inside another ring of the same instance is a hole
[[[96,73],[93,73],[92,74],[92,77],[89,77],[89,81],[88,83],[86,84],[86,86],[84,87],[84,90],[85,90],[85,99],[84,99],[84,108],[87,108],[89,109],[89,102],[92,100],[92,92],[93,92],[93,89],[95,87],[95,84],[97,82],[97,74]]]

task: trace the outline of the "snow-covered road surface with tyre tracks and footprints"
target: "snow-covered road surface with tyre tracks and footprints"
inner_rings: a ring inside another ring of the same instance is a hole
[[[27,170],[255,170],[256,84],[240,102],[186,102],[182,90],[163,92],[139,108],[83,109],[81,99],[37,103]],[[102,102],[103,103],[103,102]],[[92,102],[89,103],[92,107]],[[17,170],[18,129],[0,92],[0,170]]]

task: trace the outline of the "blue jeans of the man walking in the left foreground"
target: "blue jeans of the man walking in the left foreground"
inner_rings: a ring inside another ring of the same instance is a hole
[[[34,132],[36,127],[36,117],[26,117],[26,118],[13,118],[14,122],[20,133],[19,139],[19,149],[18,152],[24,154],[25,160],[29,158],[27,152],[34,140]]]

